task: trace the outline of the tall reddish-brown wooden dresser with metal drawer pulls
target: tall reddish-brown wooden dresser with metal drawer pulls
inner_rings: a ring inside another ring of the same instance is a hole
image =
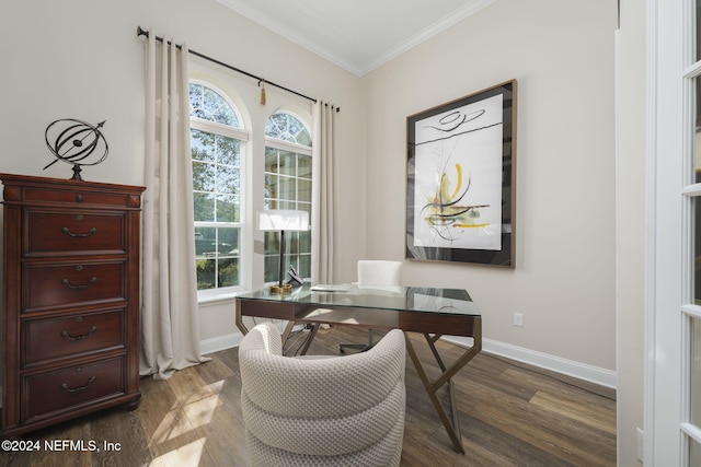
[[[139,404],[142,187],[0,174],[2,437]]]

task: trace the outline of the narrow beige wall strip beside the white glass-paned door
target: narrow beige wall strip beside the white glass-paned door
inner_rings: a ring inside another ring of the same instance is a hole
[[[618,60],[617,310],[618,458],[640,466],[645,337],[645,4],[621,1]]]

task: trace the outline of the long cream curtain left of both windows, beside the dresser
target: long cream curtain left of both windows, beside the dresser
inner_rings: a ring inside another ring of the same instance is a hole
[[[141,375],[198,364],[187,47],[149,34],[146,60]]]

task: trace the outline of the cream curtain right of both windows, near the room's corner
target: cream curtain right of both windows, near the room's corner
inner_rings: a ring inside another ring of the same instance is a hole
[[[336,109],[318,100],[312,117],[311,279],[315,283],[334,283]]]

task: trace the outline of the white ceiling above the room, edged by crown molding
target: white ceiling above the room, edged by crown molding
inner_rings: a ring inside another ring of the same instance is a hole
[[[363,75],[495,0],[217,0]]]

